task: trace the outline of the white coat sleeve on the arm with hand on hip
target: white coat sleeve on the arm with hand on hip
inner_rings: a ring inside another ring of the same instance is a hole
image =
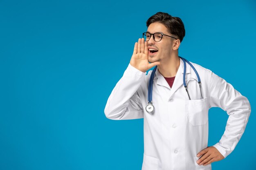
[[[210,108],[220,107],[227,111],[229,115],[224,134],[220,141],[213,145],[226,158],[234,150],[245,131],[251,113],[251,106],[245,96],[212,72],[209,105]]]

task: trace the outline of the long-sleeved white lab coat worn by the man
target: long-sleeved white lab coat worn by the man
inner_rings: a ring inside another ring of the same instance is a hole
[[[199,166],[197,153],[207,148],[208,110],[220,107],[227,111],[226,130],[214,145],[227,157],[240,140],[251,113],[246,97],[224,79],[198,64],[202,96],[193,68],[186,63],[186,81],[191,100],[183,86],[184,64],[180,59],[172,88],[158,69],[153,83],[154,113],[148,104],[148,81],[152,71],[143,73],[128,65],[123,77],[108,98],[105,115],[108,119],[144,118],[144,157],[142,170],[211,170],[211,164]]]

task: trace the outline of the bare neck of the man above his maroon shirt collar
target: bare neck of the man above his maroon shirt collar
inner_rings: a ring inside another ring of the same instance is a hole
[[[174,77],[180,67],[180,57],[177,54],[171,55],[166,61],[162,61],[157,66],[159,72],[164,77]]]

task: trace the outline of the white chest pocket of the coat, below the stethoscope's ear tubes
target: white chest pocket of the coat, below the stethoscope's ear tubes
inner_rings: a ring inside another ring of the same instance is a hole
[[[189,123],[193,126],[205,125],[208,122],[208,97],[198,100],[187,100]]]

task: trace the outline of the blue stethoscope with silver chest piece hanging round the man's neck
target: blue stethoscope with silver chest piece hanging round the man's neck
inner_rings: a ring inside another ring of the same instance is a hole
[[[180,57],[180,56],[179,56]],[[183,72],[183,85],[186,89],[186,93],[188,93],[189,96],[189,91],[187,89],[187,85],[185,82],[185,73],[186,73],[186,62],[193,68],[193,70],[195,71],[196,76],[198,77],[198,84],[200,87],[200,93],[201,93],[201,97],[202,97],[202,89],[201,89],[201,80],[200,77],[198,75],[198,72],[195,70],[195,67],[186,59],[180,57],[184,63],[184,72]],[[155,68],[153,69],[150,78],[149,78],[149,82],[148,82],[148,104],[146,106],[146,111],[147,112],[153,112],[154,111],[154,106],[153,106],[153,102],[152,102],[152,91],[153,91],[153,80],[154,80],[154,75],[155,75],[155,71],[157,70],[157,66],[155,66]],[[203,98],[203,97],[202,97]],[[201,99],[202,99],[201,98]],[[190,100],[190,96],[189,96],[189,100]]]

